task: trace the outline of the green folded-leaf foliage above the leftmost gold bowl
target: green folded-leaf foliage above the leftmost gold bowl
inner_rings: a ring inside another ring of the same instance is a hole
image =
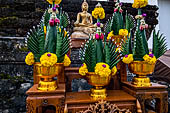
[[[33,28],[28,34],[28,49],[33,52],[36,62],[40,61],[42,54],[51,52],[57,55],[58,62],[61,63],[65,54],[69,51],[70,41],[68,34],[65,35],[64,31],[64,28],[70,23],[68,14],[61,11],[56,16],[60,18],[60,25],[50,26],[51,14],[47,9],[40,21],[40,25],[37,28]],[[44,26],[47,27],[46,36],[44,34]],[[59,28],[61,28],[61,32]]]

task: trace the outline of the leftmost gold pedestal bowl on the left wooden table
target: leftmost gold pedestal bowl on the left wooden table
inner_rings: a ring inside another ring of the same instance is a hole
[[[54,91],[58,85],[54,77],[58,77],[63,72],[63,63],[56,63],[53,66],[41,66],[40,63],[34,64],[34,78],[38,78],[38,89],[41,91]]]

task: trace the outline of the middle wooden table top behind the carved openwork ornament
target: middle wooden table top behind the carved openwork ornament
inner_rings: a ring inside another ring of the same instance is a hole
[[[107,102],[116,104],[119,108],[129,109],[132,113],[136,112],[136,98],[124,92],[123,90],[109,90],[105,99]],[[66,94],[65,104],[69,113],[75,113],[87,109],[90,104],[98,101],[90,97],[90,92],[68,92]]]

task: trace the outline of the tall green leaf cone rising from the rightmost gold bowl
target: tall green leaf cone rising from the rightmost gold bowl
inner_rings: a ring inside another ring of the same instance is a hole
[[[146,54],[144,44],[143,44],[143,38],[141,35],[141,32],[139,30],[136,31],[136,44],[133,51],[134,60],[135,61],[143,61],[143,56]]]

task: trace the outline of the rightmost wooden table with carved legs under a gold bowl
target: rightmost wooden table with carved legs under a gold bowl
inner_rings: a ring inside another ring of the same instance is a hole
[[[137,87],[131,82],[123,82],[123,90],[137,98],[142,107],[142,113],[145,111],[145,101],[147,99],[156,99],[156,113],[168,112],[168,92],[167,86],[152,83],[150,87]]]

